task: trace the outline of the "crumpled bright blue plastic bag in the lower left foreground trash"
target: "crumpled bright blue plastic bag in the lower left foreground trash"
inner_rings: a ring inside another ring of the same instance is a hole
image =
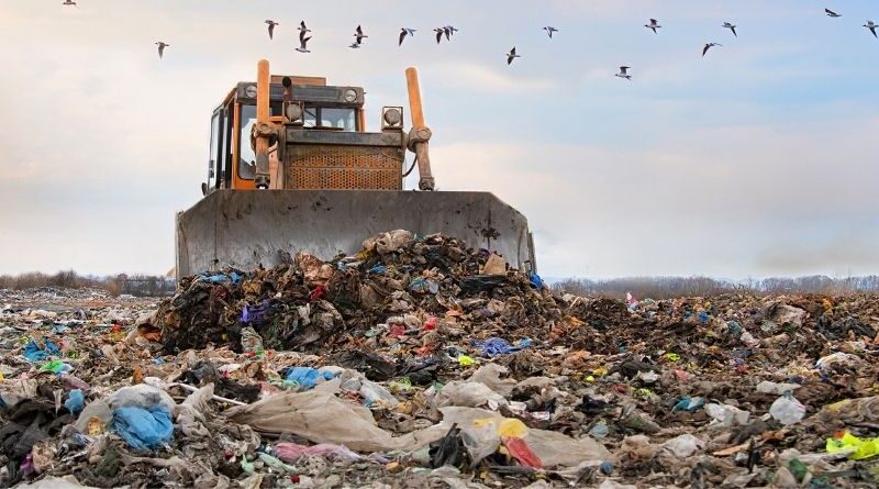
[[[126,405],[113,411],[113,431],[135,451],[155,449],[174,436],[168,410],[158,404],[149,409]]]

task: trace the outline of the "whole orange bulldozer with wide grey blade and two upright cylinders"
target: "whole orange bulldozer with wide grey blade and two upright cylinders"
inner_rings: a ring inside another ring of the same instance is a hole
[[[383,107],[368,132],[361,87],[271,75],[260,60],[256,82],[238,82],[212,114],[203,197],[177,214],[178,280],[271,267],[291,252],[354,254],[398,229],[461,238],[536,271],[522,213],[490,192],[436,190],[418,70],[405,78],[411,127],[402,105]],[[415,168],[419,188],[405,190]]]

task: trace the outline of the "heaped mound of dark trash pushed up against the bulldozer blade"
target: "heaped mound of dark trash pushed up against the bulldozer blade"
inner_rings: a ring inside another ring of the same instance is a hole
[[[557,301],[538,276],[509,269],[498,255],[405,231],[365,241],[356,256],[322,262],[298,253],[271,269],[189,277],[179,289],[151,324],[169,354],[208,345],[242,352],[245,332],[256,332],[266,348],[325,355],[375,348],[387,332],[403,337],[425,327],[437,334],[419,345],[422,352],[441,349],[445,332],[493,332],[485,348],[509,353],[523,338],[560,342],[564,334],[549,333],[571,322],[580,333],[647,323],[616,301]],[[581,341],[590,348],[607,349],[589,337]]]

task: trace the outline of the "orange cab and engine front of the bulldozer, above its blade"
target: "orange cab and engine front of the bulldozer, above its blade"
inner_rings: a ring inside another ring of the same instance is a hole
[[[403,108],[386,107],[366,132],[361,87],[325,78],[268,78],[267,175],[257,171],[259,81],[238,82],[211,119],[204,195],[219,189],[401,190],[408,134]],[[267,180],[267,181],[266,181]]]

